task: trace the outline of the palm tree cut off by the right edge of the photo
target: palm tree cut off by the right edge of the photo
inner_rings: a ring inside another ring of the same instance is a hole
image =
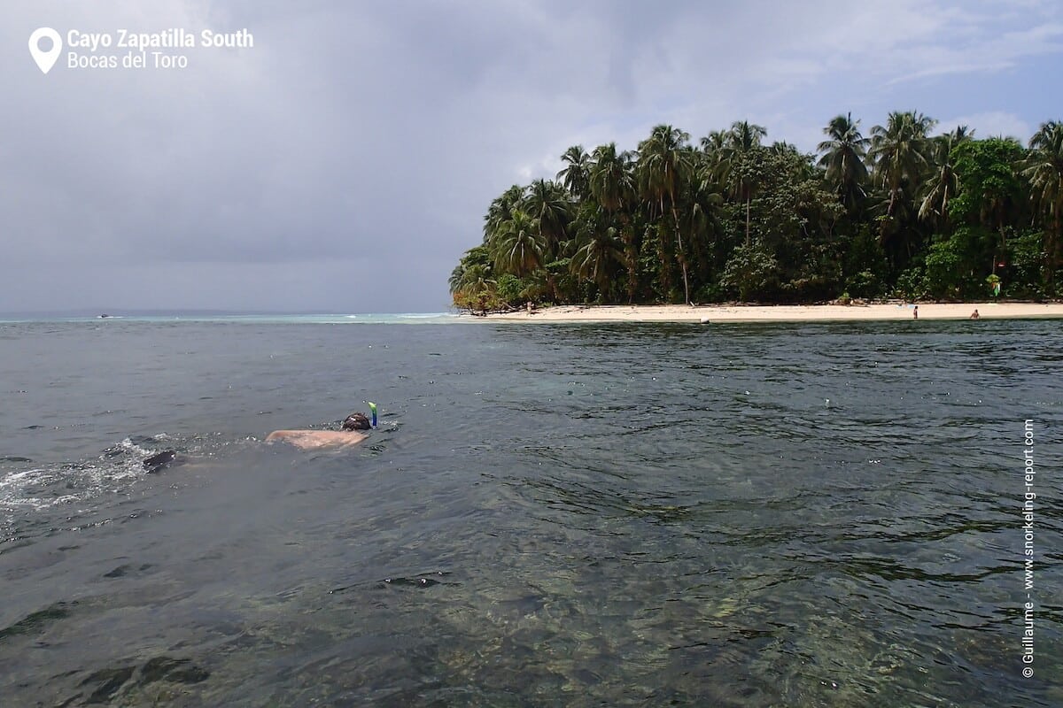
[[[1050,221],[1045,229],[1048,237],[1047,280],[1054,281],[1060,264],[1060,242],[1063,240],[1063,123],[1048,121],[1030,138],[1030,154],[1023,176],[1030,182],[1030,198]]]

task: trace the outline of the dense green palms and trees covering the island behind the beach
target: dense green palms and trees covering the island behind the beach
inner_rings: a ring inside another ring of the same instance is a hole
[[[893,113],[838,116],[815,155],[736,122],[692,144],[658,125],[635,152],[574,145],[513,186],[451,275],[454,304],[814,303],[1061,294],[1063,123],[1024,148]]]

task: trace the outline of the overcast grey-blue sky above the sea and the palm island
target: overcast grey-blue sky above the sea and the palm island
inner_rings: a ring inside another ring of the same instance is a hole
[[[46,75],[40,27],[254,46]],[[1025,143],[1061,67],[1059,0],[0,0],[0,312],[439,312],[491,198],[569,145],[749,120],[813,151],[906,109]]]

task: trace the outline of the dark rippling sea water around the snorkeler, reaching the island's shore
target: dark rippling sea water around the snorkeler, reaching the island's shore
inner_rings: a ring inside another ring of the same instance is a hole
[[[457,320],[0,323],[0,704],[1063,705],[1059,323]]]

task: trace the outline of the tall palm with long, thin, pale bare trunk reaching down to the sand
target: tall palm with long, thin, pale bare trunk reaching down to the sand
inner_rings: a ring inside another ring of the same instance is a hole
[[[649,137],[639,143],[639,191],[653,206],[659,206],[659,217],[664,215],[665,202],[671,206],[675,222],[677,257],[682,267],[684,297],[690,301],[690,282],[687,276],[687,258],[679,232],[679,213],[676,195],[690,179],[693,154],[688,146],[690,135],[671,125],[657,125]]]

